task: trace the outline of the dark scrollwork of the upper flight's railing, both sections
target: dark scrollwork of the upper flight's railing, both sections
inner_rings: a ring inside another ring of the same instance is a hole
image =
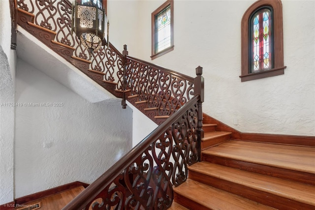
[[[73,49],[73,56],[91,62],[86,66],[93,71],[85,69],[89,77],[100,85],[102,81],[116,83],[116,90],[128,90],[127,94],[137,95],[134,100],[144,102],[137,106],[138,109],[150,109],[145,114],[151,118],[172,115],[194,95],[193,79],[131,57],[125,59],[111,44],[90,55],[71,30],[72,4],[69,0],[18,0],[17,3],[19,8],[34,14],[37,25],[55,31],[55,41]],[[71,53],[63,58],[70,61]]]

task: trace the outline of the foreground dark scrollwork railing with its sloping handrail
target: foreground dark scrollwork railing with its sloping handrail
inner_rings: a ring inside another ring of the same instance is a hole
[[[199,99],[189,100],[63,210],[168,209],[173,185],[198,161]]]

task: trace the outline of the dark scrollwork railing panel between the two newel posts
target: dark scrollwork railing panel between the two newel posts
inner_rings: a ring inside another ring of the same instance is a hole
[[[156,108],[158,116],[173,114],[194,95],[193,81],[138,60],[126,59],[126,77],[130,94]]]

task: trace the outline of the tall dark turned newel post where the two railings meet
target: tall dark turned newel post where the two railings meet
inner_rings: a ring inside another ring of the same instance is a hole
[[[202,77],[202,67],[199,65],[196,68],[196,77],[194,78],[194,92],[195,95],[199,95],[198,100],[198,124],[197,124],[197,150],[198,161],[201,157],[201,139],[204,137],[204,131],[202,129],[202,102],[204,101],[204,78]]]

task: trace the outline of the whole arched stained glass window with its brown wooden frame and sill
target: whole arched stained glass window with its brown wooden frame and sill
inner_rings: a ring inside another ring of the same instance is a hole
[[[284,74],[281,0],[257,0],[242,18],[241,81]]]

